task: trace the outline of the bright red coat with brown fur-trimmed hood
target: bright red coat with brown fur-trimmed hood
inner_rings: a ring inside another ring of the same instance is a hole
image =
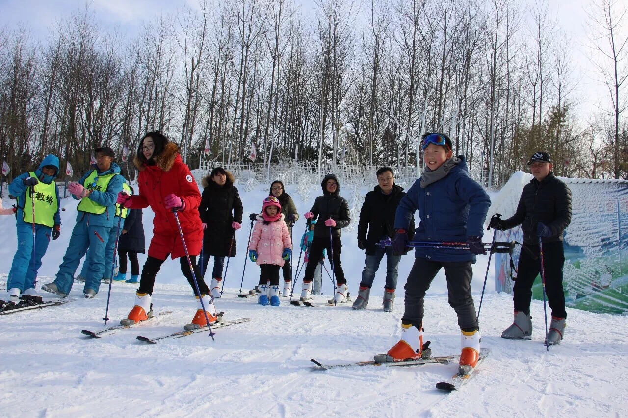
[[[188,252],[190,255],[200,254],[203,238],[203,226],[198,217],[200,191],[190,169],[181,160],[174,142],[166,142],[163,151],[151,160],[154,161],[153,165],[135,157],[134,164],[139,170],[139,191],[137,195],[131,196],[131,209],[151,206],[155,214],[148,255],[160,260],[165,260],[168,254],[172,259],[185,257],[175,215],[163,203],[170,193],[185,202],[185,209],[177,212],[177,216]]]

